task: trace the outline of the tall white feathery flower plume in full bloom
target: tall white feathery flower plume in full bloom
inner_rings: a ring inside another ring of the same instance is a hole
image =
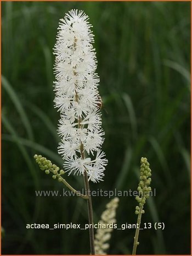
[[[101,151],[104,132],[92,25],[78,10],[71,10],[60,21],[54,47],[54,103],[60,112],[61,137],[58,152],[69,175],[87,172],[89,180],[98,182],[103,180],[108,160]]]

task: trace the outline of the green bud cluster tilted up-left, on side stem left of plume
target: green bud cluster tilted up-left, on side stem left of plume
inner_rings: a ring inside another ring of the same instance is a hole
[[[50,160],[47,160],[46,157],[43,157],[42,155],[35,155],[34,158],[42,171],[44,171],[46,174],[52,172],[53,179],[56,179],[58,177],[58,181],[62,181],[60,175],[63,175],[65,173],[64,170],[60,170],[57,165],[52,164]]]

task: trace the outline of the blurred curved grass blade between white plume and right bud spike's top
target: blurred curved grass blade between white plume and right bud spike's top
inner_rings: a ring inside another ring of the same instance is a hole
[[[131,98],[126,93],[123,94],[122,97],[123,97],[123,100],[125,101],[125,105],[127,107],[128,113],[129,113],[133,138],[137,139],[137,119],[135,116],[135,111],[134,111],[134,107],[133,107]]]

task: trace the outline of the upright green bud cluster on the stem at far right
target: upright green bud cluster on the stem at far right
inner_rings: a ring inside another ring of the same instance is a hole
[[[140,160],[140,182],[137,188],[139,195],[135,197],[139,206],[135,207],[135,214],[139,214],[139,211],[144,214],[143,206],[146,203],[146,198],[149,198],[149,192],[151,191],[151,169],[149,168],[149,162],[146,157],[142,157]]]

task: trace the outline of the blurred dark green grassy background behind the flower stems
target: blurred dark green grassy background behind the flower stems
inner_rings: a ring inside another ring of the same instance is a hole
[[[138,254],[190,254],[190,2],[2,2],[3,254],[89,254],[88,231],[26,230],[26,224],[87,223],[81,198],[36,197],[63,190],[39,170],[55,164],[58,113],[53,107],[52,48],[58,22],[71,8],[89,15],[103,98],[104,182],[91,189],[136,189],[140,157],[148,157],[156,197],[142,222]],[[77,189],[82,177],[69,176]],[[94,197],[94,220],[106,197]],[[121,197],[117,224],[135,223],[137,202]],[[109,254],[130,254],[134,230],[115,230]]]

